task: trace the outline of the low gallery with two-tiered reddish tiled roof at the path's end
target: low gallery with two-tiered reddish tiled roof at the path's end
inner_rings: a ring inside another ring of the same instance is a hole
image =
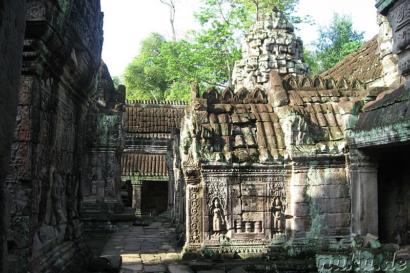
[[[173,166],[167,160],[172,128],[180,128],[186,102],[127,101],[126,144],[122,155],[122,188],[135,215],[171,213]]]

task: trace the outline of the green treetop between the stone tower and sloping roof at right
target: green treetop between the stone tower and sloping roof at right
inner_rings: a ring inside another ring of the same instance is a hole
[[[316,50],[304,52],[304,60],[311,64],[314,74],[331,69],[364,43],[364,32],[353,30],[350,15],[334,13],[330,26],[319,28],[318,32],[319,39],[313,43]]]

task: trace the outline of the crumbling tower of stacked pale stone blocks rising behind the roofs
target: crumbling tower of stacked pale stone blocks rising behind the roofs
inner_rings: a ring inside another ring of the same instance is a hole
[[[309,74],[309,64],[303,62],[303,42],[296,37],[294,27],[276,7],[264,13],[250,27],[242,43],[243,59],[235,62],[235,88],[269,87],[269,73],[282,77]]]

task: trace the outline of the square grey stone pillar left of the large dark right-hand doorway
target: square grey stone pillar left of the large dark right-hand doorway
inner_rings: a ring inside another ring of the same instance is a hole
[[[378,157],[363,150],[350,150],[349,179],[352,187],[352,232],[378,235]]]

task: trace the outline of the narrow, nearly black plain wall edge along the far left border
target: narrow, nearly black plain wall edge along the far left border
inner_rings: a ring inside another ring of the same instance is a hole
[[[25,19],[24,0],[0,3],[0,271],[7,272],[7,233],[10,224],[10,191],[5,188],[17,115],[22,70]]]

